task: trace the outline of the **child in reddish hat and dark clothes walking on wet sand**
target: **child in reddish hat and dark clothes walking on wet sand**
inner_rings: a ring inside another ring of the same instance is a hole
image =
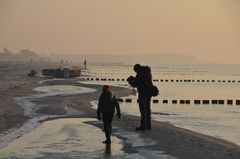
[[[98,101],[97,118],[101,120],[102,114],[104,132],[106,135],[106,141],[103,142],[105,144],[111,143],[112,120],[115,109],[117,110],[117,117],[119,119],[121,117],[119,103],[113,95],[110,86],[104,85]]]

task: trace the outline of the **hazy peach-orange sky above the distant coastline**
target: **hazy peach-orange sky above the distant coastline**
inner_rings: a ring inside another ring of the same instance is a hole
[[[240,63],[240,0],[0,0],[0,47]]]

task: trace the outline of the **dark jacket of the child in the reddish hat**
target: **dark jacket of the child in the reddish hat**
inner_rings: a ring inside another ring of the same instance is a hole
[[[117,113],[120,113],[120,106],[116,97],[111,97],[109,94],[103,92],[99,97],[97,114],[115,113],[115,109],[117,110]]]

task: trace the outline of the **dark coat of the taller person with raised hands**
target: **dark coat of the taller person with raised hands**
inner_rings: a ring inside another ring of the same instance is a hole
[[[138,90],[138,98],[151,98],[152,74],[148,66],[141,66],[136,77],[128,79],[128,83]]]

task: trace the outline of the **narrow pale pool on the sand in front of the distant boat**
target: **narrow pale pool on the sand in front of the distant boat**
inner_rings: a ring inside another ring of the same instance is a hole
[[[91,93],[96,91],[96,89],[92,89],[92,88],[71,86],[71,85],[41,86],[41,87],[35,88],[34,90],[45,93],[37,96],[76,95],[76,94]]]

